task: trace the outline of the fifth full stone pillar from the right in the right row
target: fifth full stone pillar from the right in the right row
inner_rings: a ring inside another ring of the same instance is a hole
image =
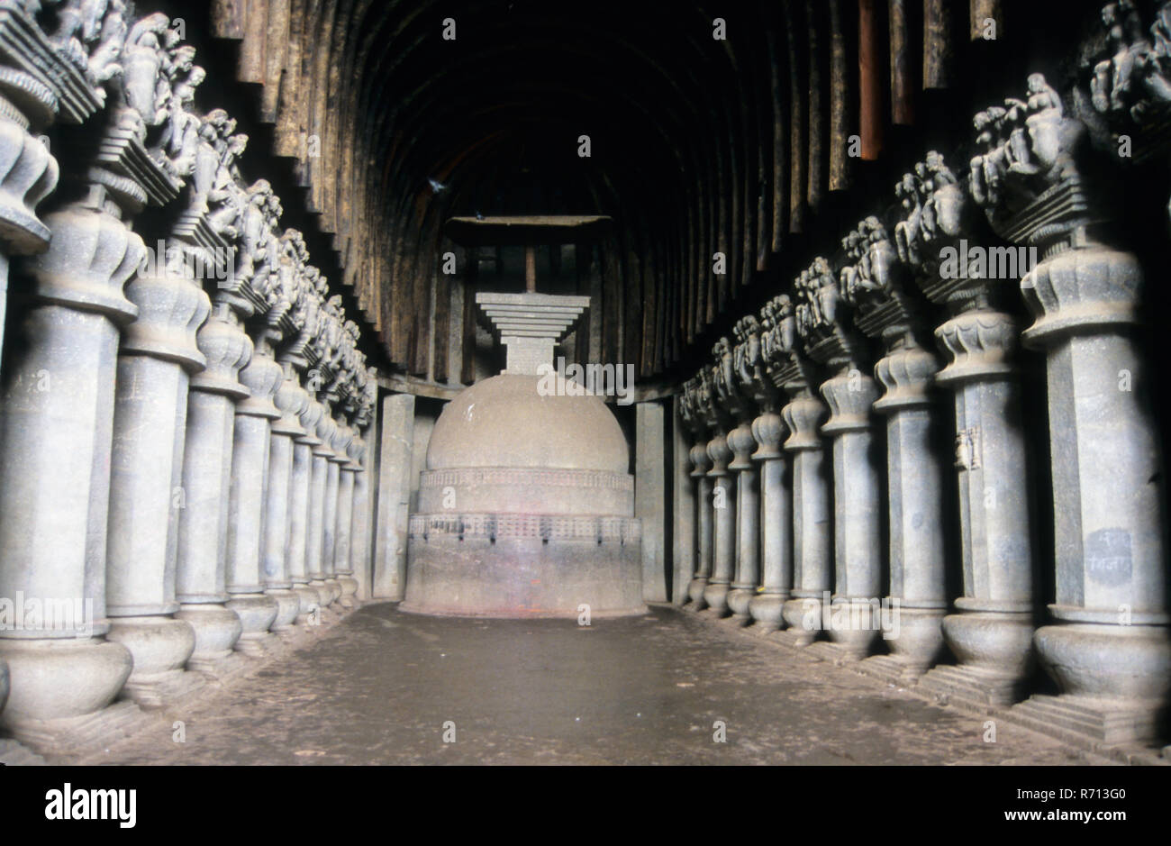
[[[793,453],[793,599],[782,614],[793,643],[808,646],[822,629],[822,599],[833,578],[829,473],[817,432],[828,410],[806,389],[781,415],[789,430],[785,450]]]

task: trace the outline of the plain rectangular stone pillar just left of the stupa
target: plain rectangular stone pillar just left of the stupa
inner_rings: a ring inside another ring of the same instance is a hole
[[[413,396],[391,394],[383,398],[382,432],[378,437],[378,521],[374,553],[374,595],[377,599],[398,601],[406,586],[413,427]]]

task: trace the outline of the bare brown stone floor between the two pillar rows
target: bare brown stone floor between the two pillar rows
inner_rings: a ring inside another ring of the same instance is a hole
[[[984,722],[666,607],[578,627],[378,603],[80,763],[1086,763]]]

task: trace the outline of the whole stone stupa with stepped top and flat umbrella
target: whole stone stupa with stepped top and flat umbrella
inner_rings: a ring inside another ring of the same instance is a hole
[[[535,292],[532,245],[581,243],[600,220],[450,221],[457,240],[527,239],[528,291],[477,294],[507,363],[461,391],[436,422],[410,518],[403,610],[501,618],[646,612],[626,439],[598,396],[567,390],[549,375],[556,342],[589,298]]]

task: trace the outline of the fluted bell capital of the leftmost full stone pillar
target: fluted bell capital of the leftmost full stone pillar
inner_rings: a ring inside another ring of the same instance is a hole
[[[26,260],[35,295],[71,308],[131,320],[138,308],[123,293],[143,261],[143,239],[104,211],[73,205],[46,217],[49,248]]]

